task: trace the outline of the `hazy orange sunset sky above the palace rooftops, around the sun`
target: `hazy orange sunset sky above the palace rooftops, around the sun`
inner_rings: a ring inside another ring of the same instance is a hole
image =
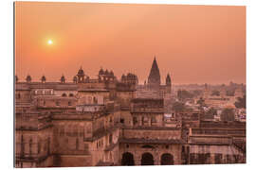
[[[156,56],[162,81],[246,83],[246,8],[15,3],[16,75],[68,81],[82,66],[147,79]],[[47,40],[53,44],[48,45]]]

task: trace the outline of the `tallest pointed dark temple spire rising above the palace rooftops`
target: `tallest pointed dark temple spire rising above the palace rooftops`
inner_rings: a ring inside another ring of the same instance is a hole
[[[151,67],[150,75],[148,77],[148,85],[150,87],[159,87],[160,84],[161,84],[160,72],[157,66],[156,59],[154,59]]]

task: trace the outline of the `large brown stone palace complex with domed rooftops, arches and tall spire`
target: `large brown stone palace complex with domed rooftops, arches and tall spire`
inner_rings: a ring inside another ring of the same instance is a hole
[[[246,125],[174,111],[172,79],[156,63],[147,82],[82,68],[67,82],[15,82],[15,166],[245,163]]]

